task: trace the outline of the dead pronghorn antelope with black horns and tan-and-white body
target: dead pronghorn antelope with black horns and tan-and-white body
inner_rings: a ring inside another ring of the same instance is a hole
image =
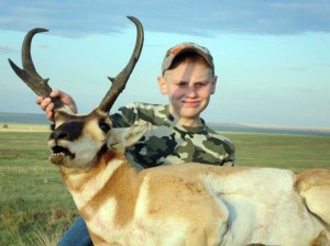
[[[91,113],[76,115],[53,99],[48,145],[95,245],[330,245],[330,171],[200,164],[136,171],[114,144],[129,145],[143,130],[111,128],[109,111],[124,89],[143,46],[138,29],[127,67]],[[47,97],[51,88],[31,58],[34,34],[23,42],[18,76]]]

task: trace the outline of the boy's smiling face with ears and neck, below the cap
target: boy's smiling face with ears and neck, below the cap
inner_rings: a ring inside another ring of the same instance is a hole
[[[217,77],[204,64],[185,62],[158,77],[160,90],[169,99],[169,112],[183,125],[200,125],[199,114],[216,90]]]

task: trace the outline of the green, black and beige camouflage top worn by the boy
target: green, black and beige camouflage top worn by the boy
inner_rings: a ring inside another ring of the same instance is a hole
[[[147,131],[125,155],[138,169],[179,163],[234,165],[234,146],[206,124],[187,127],[177,124],[168,105],[135,102],[112,114],[113,127],[144,126]]]

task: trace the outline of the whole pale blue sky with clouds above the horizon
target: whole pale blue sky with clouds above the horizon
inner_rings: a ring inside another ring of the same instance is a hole
[[[21,66],[34,27],[50,30],[33,38],[36,70],[90,112],[133,51],[128,15],[142,22],[144,46],[111,112],[167,103],[157,87],[165,52],[194,42],[209,48],[218,75],[206,122],[330,127],[329,0],[0,0],[0,112],[42,113],[8,64]]]

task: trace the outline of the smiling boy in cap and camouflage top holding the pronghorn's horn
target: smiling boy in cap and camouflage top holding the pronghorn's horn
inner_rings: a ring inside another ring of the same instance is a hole
[[[213,59],[209,51],[194,43],[169,48],[158,76],[167,105],[135,102],[111,115],[113,127],[132,125],[147,128],[144,136],[125,148],[128,159],[141,170],[160,165],[202,163],[234,165],[234,146],[226,137],[209,128],[200,118],[216,91]],[[77,111],[74,100],[55,90],[51,97]],[[37,98],[36,103],[53,119],[51,99]],[[82,243],[84,242],[84,243]],[[72,226],[58,245],[92,245],[82,219]]]

